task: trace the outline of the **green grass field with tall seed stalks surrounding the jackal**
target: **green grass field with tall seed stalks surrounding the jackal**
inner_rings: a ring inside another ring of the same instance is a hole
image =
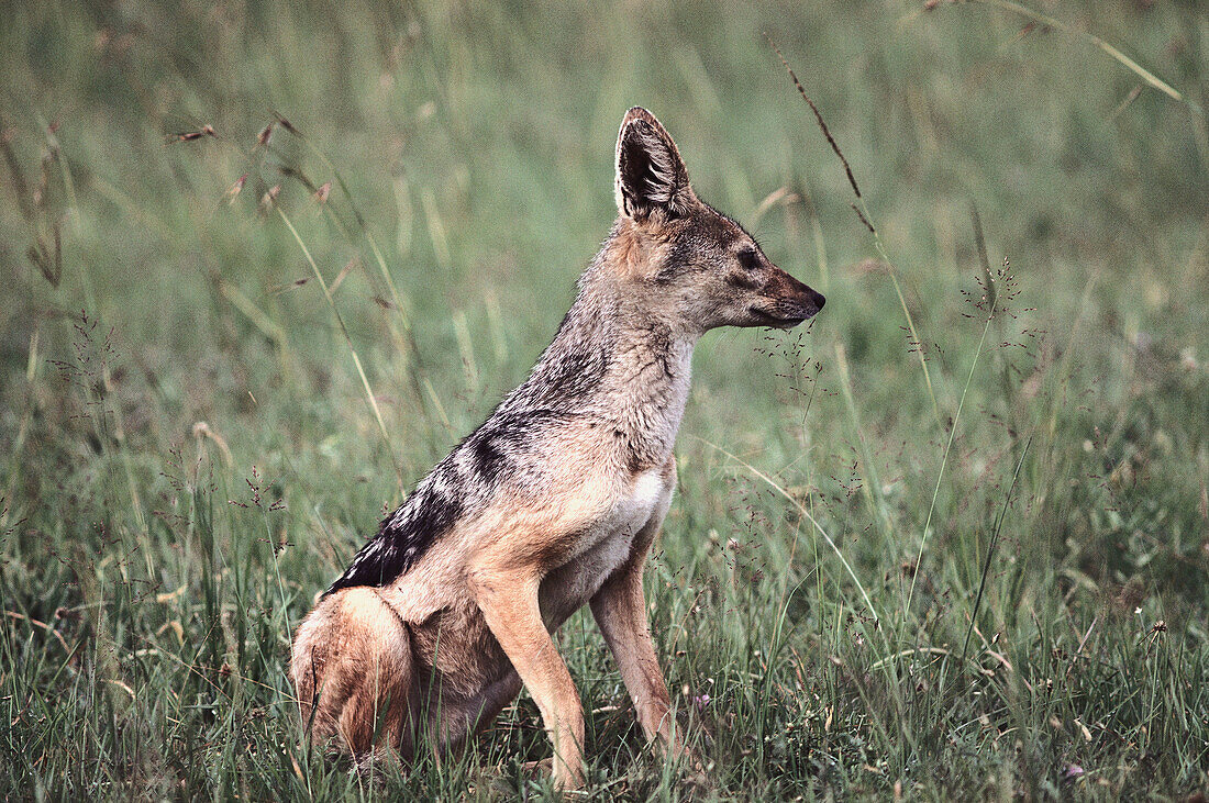
[[[527,696],[363,785],[285,661],[549,342],[635,104],[828,303],[696,351],[647,592],[708,782],[580,613],[588,795],[1204,793],[1209,14],[1026,2],[8,6],[0,797],[553,795]]]

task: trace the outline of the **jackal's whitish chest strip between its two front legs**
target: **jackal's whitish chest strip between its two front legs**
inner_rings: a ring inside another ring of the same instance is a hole
[[[627,493],[619,494],[580,534],[577,553],[542,582],[542,613],[550,629],[588,603],[626,561],[636,536],[666,513],[671,485],[661,467],[638,475]]]

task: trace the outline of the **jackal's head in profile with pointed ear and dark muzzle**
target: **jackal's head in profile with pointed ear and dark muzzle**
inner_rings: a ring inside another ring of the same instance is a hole
[[[646,109],[634,107],[621,121],[615,188],[613,262],[652,312],[704,332],[789,328],[822,309],[820,293],[773,264],[742,226],[698,199],[676,142]]]

